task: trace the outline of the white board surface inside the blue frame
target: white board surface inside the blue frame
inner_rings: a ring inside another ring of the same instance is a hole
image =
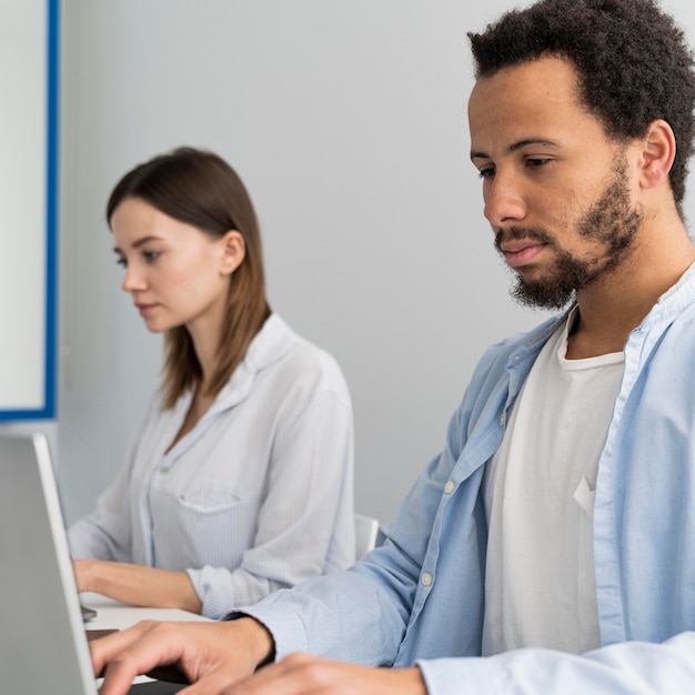
[[[47,2],[0,1],[0,409],[46,412]]]

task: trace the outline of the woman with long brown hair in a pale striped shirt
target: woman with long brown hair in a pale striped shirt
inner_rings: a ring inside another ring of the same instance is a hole
[[[165,362],[125,466],[69,530],[79,591],[220,617],[351,564],[348,386],[271,312],[239,177],[179,149],[125,174],[107,219]]]

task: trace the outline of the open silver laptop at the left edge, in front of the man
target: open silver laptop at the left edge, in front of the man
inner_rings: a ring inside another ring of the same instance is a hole
[[[0,679],[3,693],[97,695],[46,436],[0,435]],[[130,693],[184,686],[151,681]]]

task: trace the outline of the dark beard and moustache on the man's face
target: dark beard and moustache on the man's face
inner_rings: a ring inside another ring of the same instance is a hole
[[[557,242],[542,228],[513,226],[495,234],[495,246],[503,241],[528,239],[555,249],[554,264],[543,278],[527,281],[517,275],[511,290],[521,304],[538,309],[562,309],[574,300],[577,290],[588,286],[604,273],[613,271],[626,258],[642,225],[642,213],[629,204],[625,165],[615,175],[601,198],[580,220],[576,230],[583,239],[603,244],[601,256],[577,258],[557,246]]]

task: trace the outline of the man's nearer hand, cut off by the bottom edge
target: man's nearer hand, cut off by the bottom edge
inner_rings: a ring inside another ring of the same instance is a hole
[[[243,681],[218,691],[187,695],[426,695],[420,668],[371,668],[308,654],[292,654]]]

